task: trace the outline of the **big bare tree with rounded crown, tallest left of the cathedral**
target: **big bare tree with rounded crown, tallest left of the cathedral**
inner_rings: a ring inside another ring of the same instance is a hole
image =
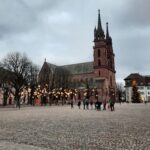
[[[27,85],[30,76],[31,61],[25,54],[19,52],[9,53],[3,60],[3,67],[14,75],[12,80],[15,88],[15,100],[19,101],[20,92],[24,85]]]

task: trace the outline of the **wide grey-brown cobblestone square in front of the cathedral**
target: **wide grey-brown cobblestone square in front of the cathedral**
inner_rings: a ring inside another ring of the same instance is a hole
[[[150,150],[150,104],[1,108],[0,150]]]

